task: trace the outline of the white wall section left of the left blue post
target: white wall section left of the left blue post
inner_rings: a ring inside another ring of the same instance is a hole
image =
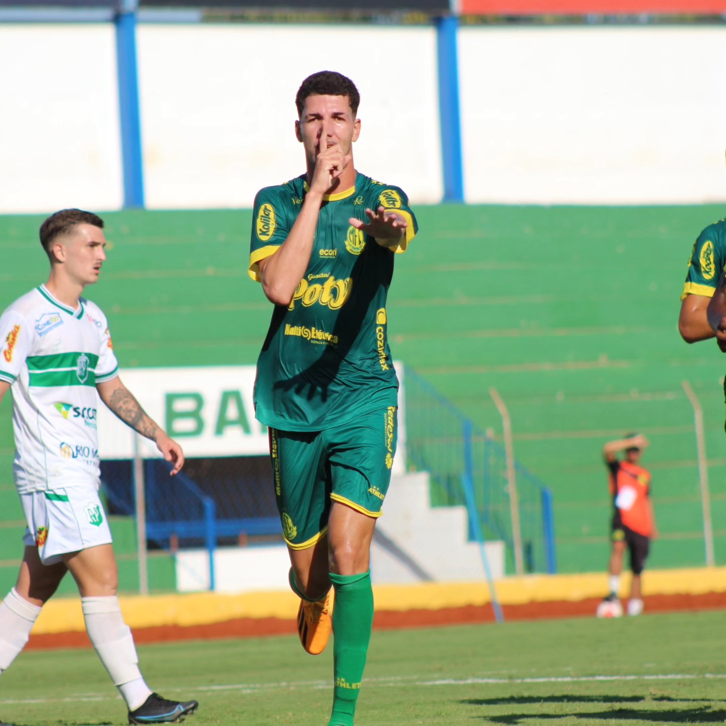
[[[0,213],[123,202],[113,25],[0,25]]]

